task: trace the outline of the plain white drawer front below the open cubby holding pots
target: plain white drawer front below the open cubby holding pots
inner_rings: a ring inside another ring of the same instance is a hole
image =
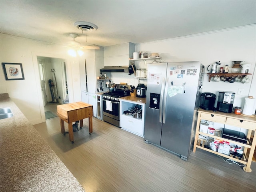
[[[142,120],[135,118],[121,118],[120,126],[129,132],[143,135]]]

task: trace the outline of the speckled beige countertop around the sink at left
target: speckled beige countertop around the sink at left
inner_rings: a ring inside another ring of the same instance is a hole
[[[8,94],[0,94],[6,106],[14,116],[0,120],[0,191],[85,192]]]

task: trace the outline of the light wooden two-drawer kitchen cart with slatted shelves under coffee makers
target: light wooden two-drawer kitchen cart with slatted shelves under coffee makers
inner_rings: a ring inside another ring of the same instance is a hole
[[[237,126],[240,128],[244,128],[248,130],[247,133],[247,143],[244,144],[242,142],[237,142],[234,140],[229,140],[229,139],[224,139],[222,137],[218,137],[218,136],[214,136],[214,135],[210,135],[204,132],[200,132],[200,121],[201,120],[208,120],[208,121],[212,121],[212,122],[218,122],[218,123],[222,123],[222,124],[228,124],[231,126]],[[223,113],[223,112],[213,112],[213,111],[207,111],[207,110],[203,110],[201,108],[198,109],[198,120],[197,120],[197,125],[196,125],[196,135],[195,135],[195,141],[194,141],[194,150],[193,152],[196,152],[196,148],[200,148],[202,150],[206,150],[208,152],[212,152],[214,154],[218,154],[219,156],[223,156],[232,160],[235,160],[237,162],[240,162],[242,164],[245,164],[244,166],[244,171],[245,172],[252,172],[250,166],[252,164],[252,157],[254,154],[254,150],[255,150],[255,145],[256,145],[256,136],[254,134],[254,137],[252,138],[252,141],[250,140],[251,136],[252,136],[252,131],[256,131],[256,117],[246,117],[246,116],[241,116],[241,115],[236,115],[233,113]],[[226,142],[230,142],[230,143],[234,143],[236,145],[239,146],[243,146],[244,147],[244,154],[242,156],[242,158],[233,156],[233,155],[226,155],[226,154],[222,154],[213,150],[210,150],[208,148],[204,148],[204,143],[205,141],[200,140],[198,137],[199,135],[203,135],[203,136],[208,136],[208,137],[212,137],[215,139],[220,139],[220,140],[225,140]],[[201,144],[202,142],[202,144]],[[247,150],[248,148],[250,149],[249,155],[247,156]]]

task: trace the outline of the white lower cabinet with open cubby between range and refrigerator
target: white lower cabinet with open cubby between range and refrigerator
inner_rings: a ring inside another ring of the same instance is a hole
[[[133,108],[139,105],[142,108],[142,118],[137,119],[133,116],[128,116],[124,114],[124,111],[129,110],[129,108]],[[136,134],[144,138],[144,119],[145,119],[145,104],[138,103],[128,100],[120,100],[120,126],[121,129]]]

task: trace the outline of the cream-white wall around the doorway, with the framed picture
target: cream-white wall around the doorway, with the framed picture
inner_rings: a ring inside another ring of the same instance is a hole
[[[0,93],[8,93],[32,124],[45,121],[37,56],[62,58],[66,61],[70,101],[81,101],[79,61],[66,54],[67,48],[6,34],[0,34],[0,40],[0,62],[22,63],[25,78],[6,81],[1,67]]]

